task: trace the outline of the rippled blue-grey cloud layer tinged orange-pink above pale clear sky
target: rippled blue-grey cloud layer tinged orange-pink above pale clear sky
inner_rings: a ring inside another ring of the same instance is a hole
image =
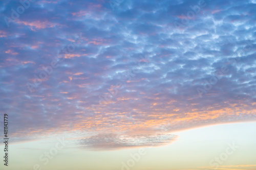
[[[16,19],[19,2],[0,4],[1,112],[18,141],[79,132],[89,148],[154,146],[256,119],[255,0],[45,0]]]

